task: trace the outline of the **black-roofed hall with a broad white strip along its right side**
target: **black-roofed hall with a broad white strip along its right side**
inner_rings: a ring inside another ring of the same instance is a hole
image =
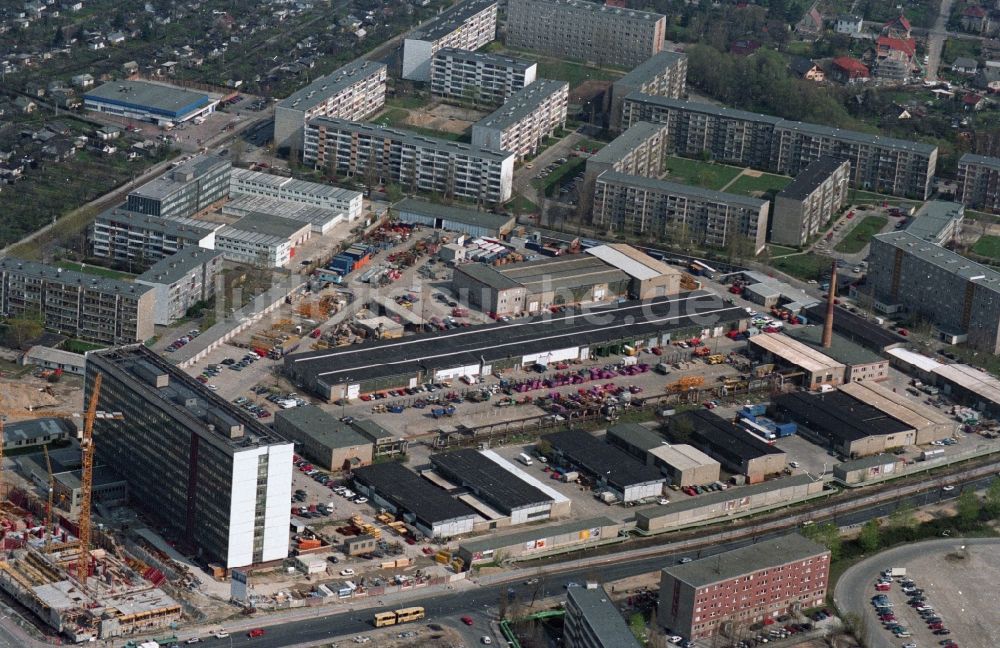
[[[430,457],[433,476],[495,529],[569,515],[570,500],[491,450],[454,450]],[[479,530],[479,529],[477,529]]]

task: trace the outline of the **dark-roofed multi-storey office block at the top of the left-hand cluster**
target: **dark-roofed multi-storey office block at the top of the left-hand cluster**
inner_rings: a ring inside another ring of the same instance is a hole
[[[129,195],[126,209],[163,218],[190,218],[229,196],[232,162],[218,155],[197,155]]]

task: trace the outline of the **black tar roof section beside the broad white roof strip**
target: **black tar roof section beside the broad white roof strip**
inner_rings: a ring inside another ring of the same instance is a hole
[[[487,503],[509,514],[514,509],[547,504],[552,498],[518,479],[477,450],[456,450],[431,455],[434,468],[445,478],[472,489]]]

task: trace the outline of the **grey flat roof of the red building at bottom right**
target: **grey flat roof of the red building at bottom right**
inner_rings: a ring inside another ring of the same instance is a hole
[[[670,565],[663,572],[697,588],[829,553],[826,547],[790,533],[684,565]]]

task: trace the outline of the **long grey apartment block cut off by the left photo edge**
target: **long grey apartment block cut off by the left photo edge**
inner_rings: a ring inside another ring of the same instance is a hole
[[[0,259],[0,315],[41,316],[45,329],[93,344],[131,344],[153,337],[148,286]]]

